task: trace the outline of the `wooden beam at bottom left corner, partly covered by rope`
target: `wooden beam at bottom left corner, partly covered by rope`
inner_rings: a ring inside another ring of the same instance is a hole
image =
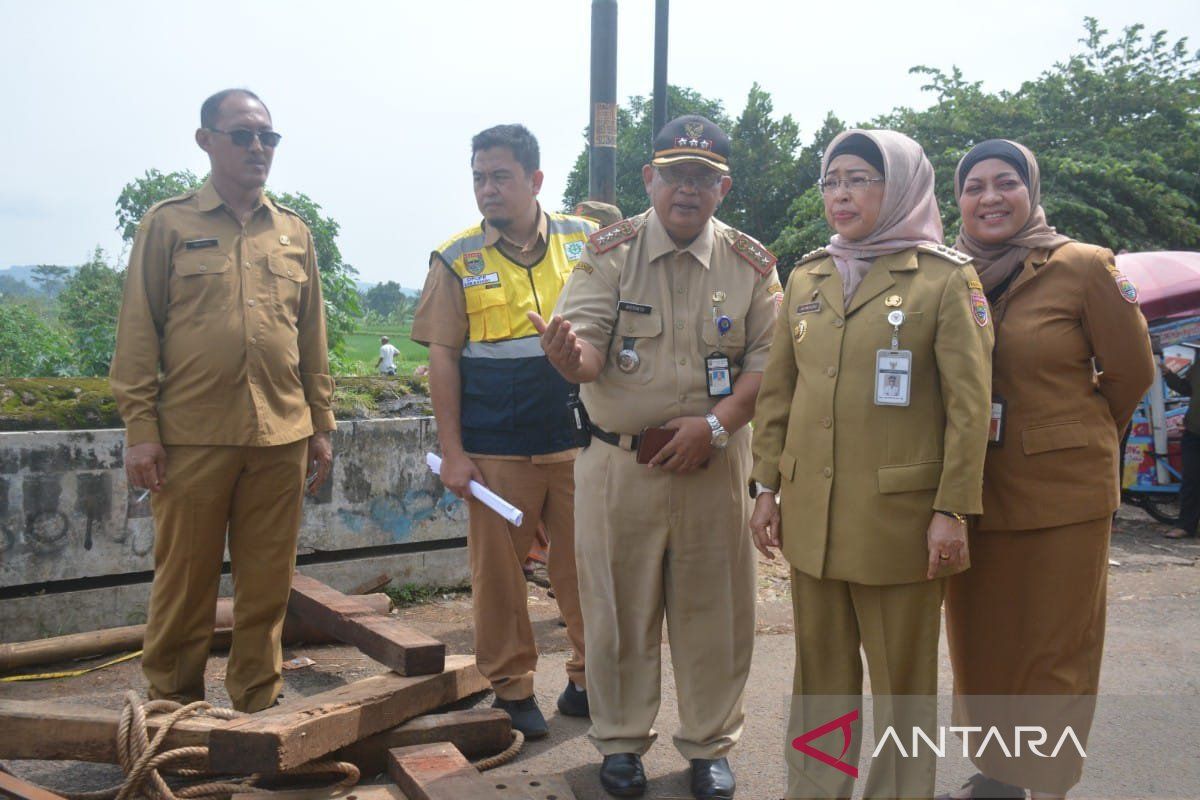
[[[120,711],[43,700],[0,700],[0,758],[118,763]],[[166,715],[146,720],[154,738]],[[166,748],[203,746],[209,730],[226,724],[214,717],[180,720],[167,734]]]

